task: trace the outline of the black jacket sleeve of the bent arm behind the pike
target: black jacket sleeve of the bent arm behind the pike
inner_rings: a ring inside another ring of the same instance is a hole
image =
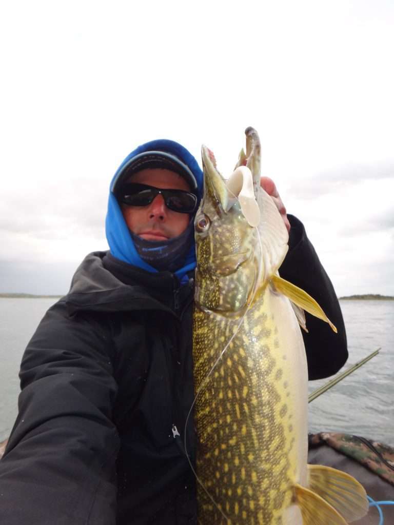
[[[309,379],[322,379],[335,374],[348,358],[345,324],[334,287],[326,274],[316,251],[306,236],[303,224],[288,215],[291,230],[289,251],[279,274],[309,293],[335,324],[338,333],[329,325],[306,313],[309,333],[302,330]]]

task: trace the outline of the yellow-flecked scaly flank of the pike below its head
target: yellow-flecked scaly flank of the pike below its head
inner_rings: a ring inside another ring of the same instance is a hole
[[[293,417],[288,382],[280,356],[275,358],[280,346],[275,320],[268,321],[264,301],[257,299],[216,366],[241,316],[225,322],[212,312],[198,311],[194,316],[193,333],[202,335],[194,340],[195,387],[198,391],[203,385],[204,392],[195,403],[200,436],[196,466],[202,485],[226,516],[231,512],[236,521],[229,523],[234,524],[282,523],[280,516],[274,521],[276,514],[292,497],[288,456],[294,440],[286,436],[292,433]],[[201,331],[209,324],[215,326],[213,331]],[[275,386],[278,380],[282,391]],[[201,486],[199,499],[201,522],[221,523],[223,515]]]

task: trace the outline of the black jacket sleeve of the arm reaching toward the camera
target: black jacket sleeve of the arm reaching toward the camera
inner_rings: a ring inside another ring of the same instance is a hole
[[[0,461],[0,523],[113,525],[118,435],[108,335],[64,301],[22,359],[19,414]]]

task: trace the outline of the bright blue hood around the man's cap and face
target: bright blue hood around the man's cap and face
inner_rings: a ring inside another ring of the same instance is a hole
[[[115,195],[112,193],[115,182],[118,180],[122,172],[127,169],[131,159],[133,159],[134,156],[138,155],[139,153],[143,153],[145,151],[165,151],[171,153],[172,155],[176,155],[181,161],[189,166],[197,181],[199,201],[202,197],[203,191],[203,174],[197,161],[194,159],[193,155],[188,150],[186,150],[186,148],[184,148],[181,144],[178,144],[178,142],[161,139],[152,140],[151,142],[146,142],[145,144],[138,146],[138,148],[132,151],[121,163],[112,178],[106,217],[106,236],[111,254],[117,259],[128,262],[129,264],[137,266],[143,270],[157,272],[157,269],[150,266],[139,256],[131,238],[129,229],[125,223],[125,219],[123,219],[118,201]],[[195,247],[193,242],[186,257],[184,266],[179,268],[174,273],[181,280],[186,272],[195,268],[195,264]]]

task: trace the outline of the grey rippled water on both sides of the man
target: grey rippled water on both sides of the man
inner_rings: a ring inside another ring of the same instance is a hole
[[[54,298],[0,298],[0,441],[17,414],[23,351]],[[345,432],[394,445],[394,301],[341,301],[349,360],[377,357],[309,404],[310,432]],[[309,382],[309,392],[328,380]]]

